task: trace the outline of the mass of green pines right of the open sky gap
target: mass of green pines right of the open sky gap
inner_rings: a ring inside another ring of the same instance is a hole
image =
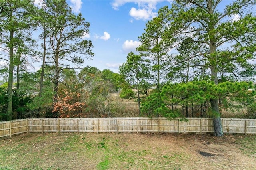
[[[252,83],[246,82],[256,73],[256,2],[223,2],[174,0],[146,23],[137,53],[120,66],[137,89],[139,107],[140,97],[146,97],[141,111],[173,118],[181,115],[177,108],[185,117],[189,109],[191,116],[199,110],[200,116],[213,118],[214,135],[223,136],[222,109],[255,108],[254,92],[248,92]]]

